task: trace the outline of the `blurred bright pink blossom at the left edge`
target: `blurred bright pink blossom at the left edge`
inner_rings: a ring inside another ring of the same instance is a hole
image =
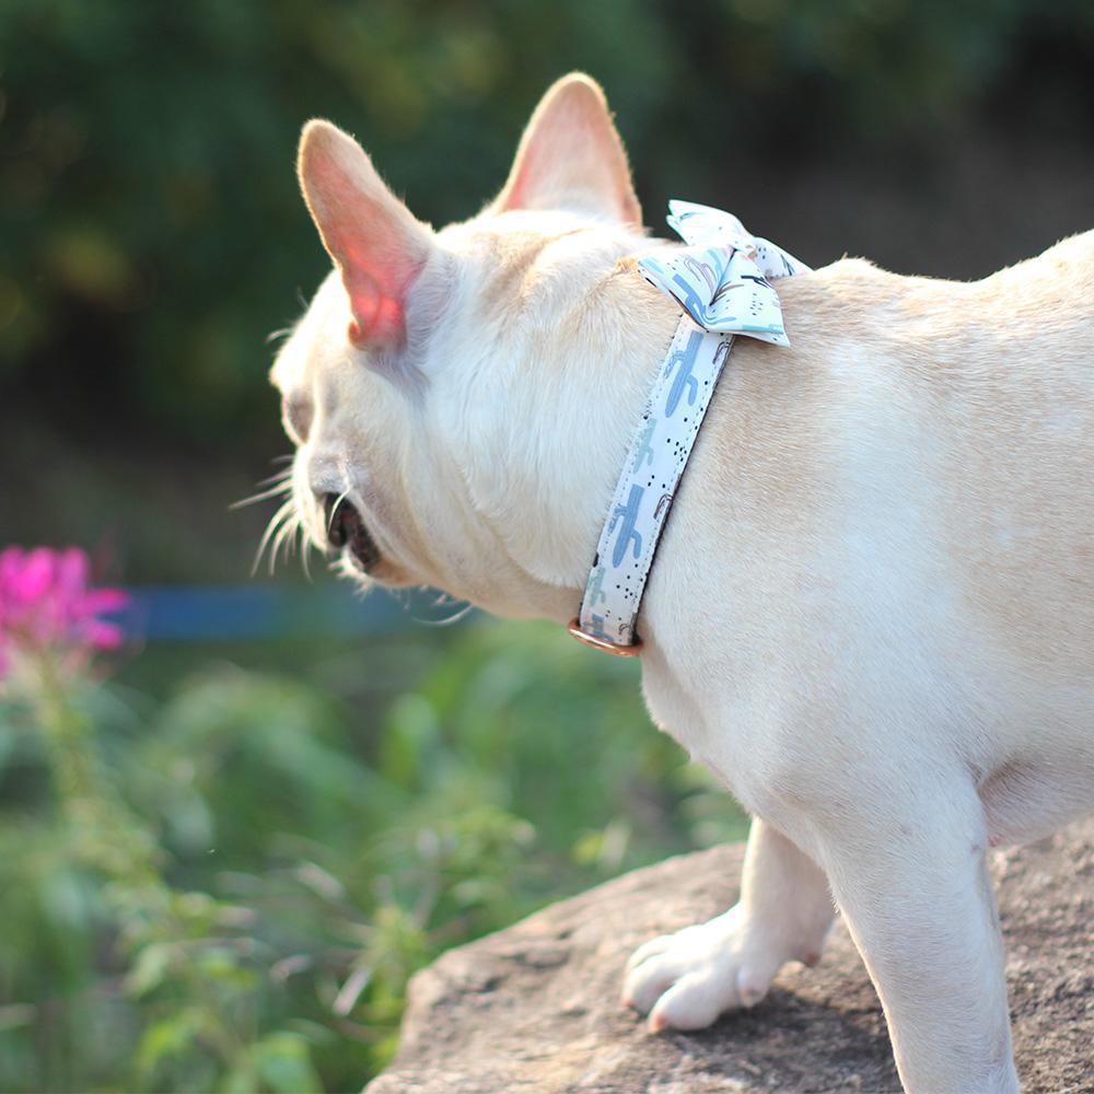
[[[98,616],[128,603],[118,589],[92,589],[88,555],[79,547],[0,551],[0,679],[15,653],[60,650],[89,655],[125,637]]]

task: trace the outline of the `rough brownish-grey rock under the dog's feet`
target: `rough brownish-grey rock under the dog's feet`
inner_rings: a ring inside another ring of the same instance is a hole
[[[638,870],[444,954],[410,985],[403,1043],[368,1094],[898,1091],[885,1021],[837,923],[752,1011],[647,1033],[619,1004],[647,939],[736,899],[743,846]],[[1026,1094],[1094,1090],[1094,818],[997,856],[1014,1048]]]

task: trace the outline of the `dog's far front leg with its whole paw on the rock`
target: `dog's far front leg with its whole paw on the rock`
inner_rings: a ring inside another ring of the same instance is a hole
[[[741,899],[728,912],[637,950],[624,1000],[650,1027],[699,1029],[723,1011],[752,1006],[788,961],[815,964],[833,920],[816,863],[758,817],[753,821]]]

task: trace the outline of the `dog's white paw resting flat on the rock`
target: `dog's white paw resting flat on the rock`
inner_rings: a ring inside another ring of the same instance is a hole
[[[654,1033],[701,1029],[725,1011],[758,1003],[793,956],[749,931],[737,906],[639,946],[627,963],[622,1001],[649,1014]]]

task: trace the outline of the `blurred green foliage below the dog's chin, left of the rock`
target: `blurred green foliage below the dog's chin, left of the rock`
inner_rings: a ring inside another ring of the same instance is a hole
[[[357,1090],[442,950],[743,835],[554,627],[313,653],[0,710],[0,1090]]]

